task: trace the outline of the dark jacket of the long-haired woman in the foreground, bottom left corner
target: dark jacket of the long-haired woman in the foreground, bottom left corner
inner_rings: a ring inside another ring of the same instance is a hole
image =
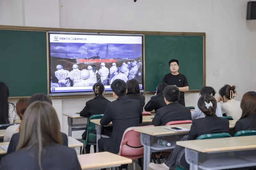
[[[53,144],[43,148],[41,159],[42,169],[47,170],[81,170],[76,151],[60,144]],[[0,170],[38,170],[38,148],[22,149],[6,155],[1,160]]]

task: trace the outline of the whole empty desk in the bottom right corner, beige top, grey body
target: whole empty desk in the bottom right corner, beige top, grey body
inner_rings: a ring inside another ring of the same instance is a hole
[[[177,145],[185,147],[190,170],[256,166],[255,136],[177,141]],[[202,158],[199,154],[204,154],[207,159],[199,160]]]

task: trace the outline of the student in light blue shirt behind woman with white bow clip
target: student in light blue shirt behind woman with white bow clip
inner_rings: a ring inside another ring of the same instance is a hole
[[[210,94],[211,96],[214,97],[215,93],[216,92],[212,87],[205,86],[201,89],[200,95]],[[192,121],[193,121],[196,118],[204,117],[204,114],[198,107],[196,107],[195,110],[191,113],[191,116],[192,116]],[[217,103],[216,116],[222,117],[220,103]]]

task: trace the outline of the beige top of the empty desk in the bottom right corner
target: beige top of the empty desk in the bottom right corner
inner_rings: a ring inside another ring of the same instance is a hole
[[[199,152],[256,149],[255,136],[177,141],[176,144]]]

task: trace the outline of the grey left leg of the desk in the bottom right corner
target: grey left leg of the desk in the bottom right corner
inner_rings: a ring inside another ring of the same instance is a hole
[[[189,170],[198,170],[198,155],[197,151],[185,148],[185,158],[190,165]]]

